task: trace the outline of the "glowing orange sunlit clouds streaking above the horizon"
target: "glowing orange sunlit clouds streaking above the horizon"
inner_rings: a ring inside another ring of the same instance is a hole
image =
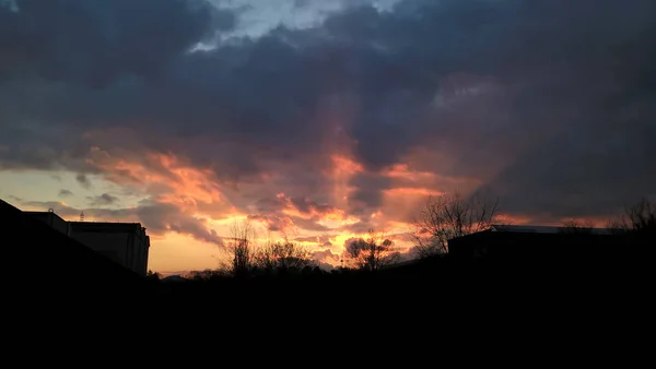
[[[435,190],[438,176],[412,170],[408,164],[397,164],[377,174],[390,178],[395,184],[383,190],[382,207],[368,216],[356,217],[347,211],[349,197],[354,191],[350,181],[353,176],[364,174],[365,169],[347,154],[333,154],[329,157],[330,167],[325,175],[332,186],[331,203],[315,202],[306,197],[291,197],[281,191],[263,202],[254,198],[253,202],[257,202],[258,206],[256,213],[253,213],[253,209],[245,213],[245,210],[232,204],[225,192],[229,189],[222,188],[212,170],[194,167],[173,153],[147,153],[128,159],[93,147],[87,163],[98,168],[108,180],[142,189],[144,193],[152,194],[157,203],[173,205],[181,214],[195,219],[190,224],[180,223],[181,221],[166,224],[168,231],[179,233],[184,225],[188,234],[192,231],[190,235],[197,235],[194,237],[207,241],[226,236],[230,219],[247,217],[263,228],[282,235],[291,231],[295,236],[303,236],[304,240],[300,243],[306,245],[311,251],[324,251],[319,253],[321,255],[326,254],[326,247],[332,250],[332,255],[341,254],[347,240],[366,238],[366,229],[370,227],[386,229],[390,235],[407,233],[410,226],[403,222],[417,211],[419,203],[427,195],[442,193]],[[267,172],[262,178],[273,180],[274,175]],[[258,186],[269,184],[250,183],[247,188],[257,193]],[[230,190],[234,192],[232,195],[241,195],[238,190]],[[317,236],[326,233],[331,235]],[[317,241],[307,241],[309,237],[315,237]],[[410,247],[402,237],[396,238],[401,250]],[[325,262],[338,262],[332,257],[328,259]]]

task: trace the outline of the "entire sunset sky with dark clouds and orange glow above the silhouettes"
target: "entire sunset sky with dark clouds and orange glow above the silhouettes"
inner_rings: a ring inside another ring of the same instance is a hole
[[[606,219],[656,199],[654,66],[653,0],[0,0],[0,199],[159,272],[243,219],[337,265],[455,191]]]

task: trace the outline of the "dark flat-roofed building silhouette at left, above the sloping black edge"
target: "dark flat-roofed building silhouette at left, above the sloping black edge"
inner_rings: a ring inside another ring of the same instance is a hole
[[[67,222],[51,210],[25,213],[139,275],[148,271],[150,237],[140,223]]]

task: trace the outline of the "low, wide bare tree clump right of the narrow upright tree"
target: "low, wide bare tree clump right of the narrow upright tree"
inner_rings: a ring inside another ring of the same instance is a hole
[[[259,249],[255,255],[255,264],[268,272],[273,271],[301,271],[312,266],[312,253],[302,246],[285,240],[284,242],[269,242]]]

